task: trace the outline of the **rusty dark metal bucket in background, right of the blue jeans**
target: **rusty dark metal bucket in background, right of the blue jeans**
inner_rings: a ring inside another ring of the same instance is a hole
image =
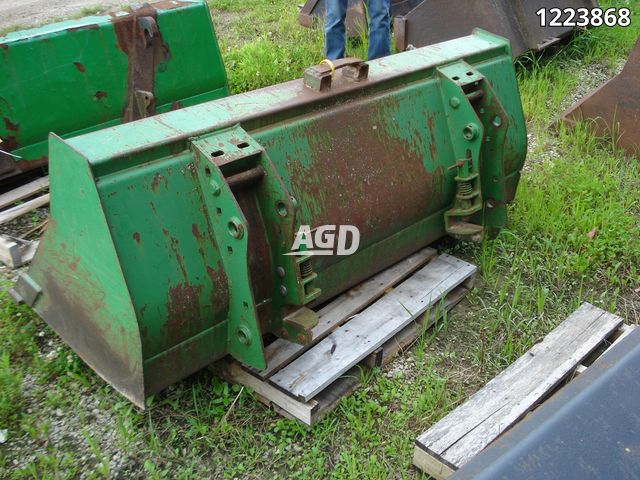
[[[394,19],[398,50],[423,47],[482,28],[511,41],[514,56],[541,50],[569,35],[572,27],[541,27],[540,8],[594,8],[596,0],[423,0]]]

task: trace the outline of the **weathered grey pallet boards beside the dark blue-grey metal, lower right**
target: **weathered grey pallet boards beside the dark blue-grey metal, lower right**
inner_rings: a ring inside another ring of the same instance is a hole
[[[452,475],[631,330],[622,318],[583,304],[541,343],[418,437],[414,465],[437,480]]]

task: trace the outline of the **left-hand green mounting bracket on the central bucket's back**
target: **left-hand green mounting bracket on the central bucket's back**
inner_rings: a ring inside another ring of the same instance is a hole
[[[264,361],[262,332],[249,274],[249,225],[233,189],[252,188],[271,250],[275,281],[273,314],[267,329],[292,341],[308,343],[317,316],[304,305],[320,295],[320,290],[313,286],[317,274],[311,257],[285,255],[291,250],[297,232],[298,205],[266,151],[240,126],[196,139],[192,146],[222,263],[232,285],[229,353],[255,368],[264,368],[259,363]],[[248,330],[251,342],[257,345],[255,349],[247,344],[242,329]]]

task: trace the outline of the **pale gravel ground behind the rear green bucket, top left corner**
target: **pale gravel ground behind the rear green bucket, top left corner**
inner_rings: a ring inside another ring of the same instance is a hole
[[[83,8],[119,6],[123,0],[0,0],[0,28],[33,27],[54,19],[69,18]]]

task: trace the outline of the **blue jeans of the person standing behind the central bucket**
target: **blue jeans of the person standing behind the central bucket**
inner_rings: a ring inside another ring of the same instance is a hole
[[[369,60],[391,53],[391,0],[366,0],[369,12]],[[327,0],[324,28],[325,53],[329,60],[344,57],[344,21],[348,0]]]

